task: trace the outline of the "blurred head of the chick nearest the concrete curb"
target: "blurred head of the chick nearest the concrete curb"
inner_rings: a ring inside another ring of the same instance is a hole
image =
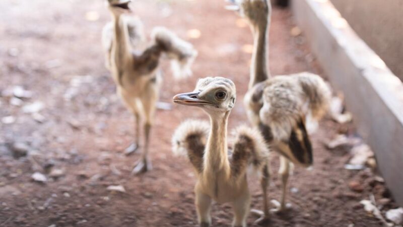
[[[257,26],[267,23],[269,20],[272,6],[268,2],[270,0],[227,0],[230,5],[226,6],[227,10],[237,12],[248,22]]]

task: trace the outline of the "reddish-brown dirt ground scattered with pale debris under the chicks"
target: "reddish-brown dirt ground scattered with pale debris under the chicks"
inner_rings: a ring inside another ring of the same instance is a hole
[[[199,51],[189,79],[174,81],[168,65],[163,64],[161,101],[171,102],[174,94],[192,90],[199,77],[228,77],[238,92],[229,123],[232,129],[246,123],[239,100],[249,80],[252,36],[224,5],[216,0],[153,0],[135,1],[132,8],[148,33],[154,26],[167,26]],[[133,119],[116,96],[104,67],[100,34],[109,15],[103,1],[2,0],[0,9],[0,118],[4,121],[0,130],[0,226],[197,226],[195,177],[185,158],[171,154],[170,141],[181,121],[206,118],[203,111],[173,104],[171,110],[158,110],[151,143],[154,169],[130,176],[139,154],[122,152],[132,141]],[[273,10],[272,74],[310,71],[325,77],[303,35],[290,34],[293,26],[288,9]],[[192,29],[200,32],[198,38]],[[32,97],[11,97],[7,93],[14,86],[32,91]],[[43,109],[30,113],[35,110],[24,108],[33,102],[37,107],[43,103]],[[263,226],[381,225],[359,202],[374,194],[384,207],[394,207],[387,199],[389,192],[369,169],[344,168],[350,158],[347,148],[325,148],[323,144],[337,133],[354,135],[355,129],[353,124],[340,125],[330,119],[321,122],[312,136],[313,169],[296,167],[290,177],[293,207],[285,214],[274,214]],[[28,146],[24,148],[27,156],[13,156],[10,147],[16,143]],[[272,166],[269,195],[278,199],[276,155]],[[43,173],[47,182],[34,182],[35,172]],[[251,206],[261,209],[257,180],[250,182]],[[351,182],[361,189],[350,189]],[[126,192],[110,192],[106,189],[110,185],[122,185]],[[231,207],[215,204],[212,216],[214,226],[229,226]],[[249,215],[249,226],[254,226],[254,219]]]

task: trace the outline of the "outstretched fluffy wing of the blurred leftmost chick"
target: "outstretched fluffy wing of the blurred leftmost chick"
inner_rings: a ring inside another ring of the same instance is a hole
[[[180,39],[176,34],[164,27],[153,29],[152,39],[162,48],[171,60],[171,69],[175,78],[190,76],[197,50],[189,42]]]

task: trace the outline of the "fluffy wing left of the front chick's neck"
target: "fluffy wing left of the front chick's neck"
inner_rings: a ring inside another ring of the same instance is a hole
[[[179,125],[172,137],[172,151],[187,156],[197,173],[203,171],[203,155],[209,136],[206,121],[187,120]]]

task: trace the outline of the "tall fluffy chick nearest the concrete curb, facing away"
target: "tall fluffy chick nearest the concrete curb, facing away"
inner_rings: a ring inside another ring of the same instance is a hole
[[[273,200],[277,209],[286,208],[287,183],[291,162],[312,165],[312,145],[308,131],[328,111],[331,91],[318,75],[298,73],[270,76],[268,64],[268,28],[272,6],[269,0],[230,0],[235,10],[247,20],[253,34],[253,53],[249,90],[244,104],[251,124],[258,127],[267,143],[280,153],[282,179],[281,201]]]

